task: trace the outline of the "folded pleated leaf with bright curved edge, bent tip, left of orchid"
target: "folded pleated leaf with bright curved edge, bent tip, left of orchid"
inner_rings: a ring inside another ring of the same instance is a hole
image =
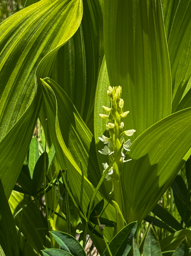
[[[92,184],[96,186],[101,177],[94,138],[62,88],[50,78],[41,81],[46,104],[47,131],[51,135],[60,168],[68,169],[69,186],[77,203],[81,192],[81,166],[83,168],[83,207],[86,212],[94,192]],[[104,186],[101,192],[107,196]],[[96,202],[101,199],[97,195]],[[115,208],[108,205],[104,214],[111,220],[115,219]]]

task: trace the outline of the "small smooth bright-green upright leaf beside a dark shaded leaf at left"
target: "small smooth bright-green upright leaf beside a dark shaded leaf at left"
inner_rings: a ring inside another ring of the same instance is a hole
[[[31,178],[34,171],[35,164],[39,159],[39,146],[38,146],[38,139],[34,137],[31,141],[30,148],[29,148],[29,161],[28,167],[30,170]]]

